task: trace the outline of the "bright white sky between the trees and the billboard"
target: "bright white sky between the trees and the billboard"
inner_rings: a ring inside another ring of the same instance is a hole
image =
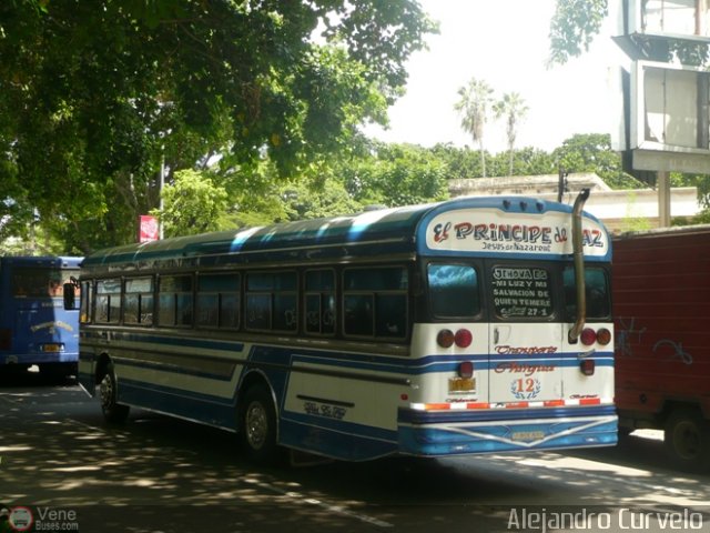
[[[473,147],[454,110],[458,89],[471,78],[485,80],[496,99],[518,92],[525,100],[529,110],[516,148],[552,151],[576,133],[611,133],[616,128],[613,99],[620,95],[611,88],[623,54],[610,39],[610,18],[589,52],[548,69],[555,0],[419,3],[439,22],[439,34],[427,39],[428,51],[414,53],[407,62],[407,92],[389,109],[389,129],[367,127],[369,137],[424,147]],[[503,120],[486,124],[484,148],[493,153],[507,150]]]

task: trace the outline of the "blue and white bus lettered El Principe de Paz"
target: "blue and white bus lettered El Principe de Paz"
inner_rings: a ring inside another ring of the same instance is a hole
[[[80,383],[364,461],[617,442],[611,249],[575,207],[470,198],[103,250]]]

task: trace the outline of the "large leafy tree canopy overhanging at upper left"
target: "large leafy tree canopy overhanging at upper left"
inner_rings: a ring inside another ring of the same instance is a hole
[[[3,199],[88,251],[132,239],[162,158],[297,175],[386,121],[433,31],[415,0],[0,2]]]

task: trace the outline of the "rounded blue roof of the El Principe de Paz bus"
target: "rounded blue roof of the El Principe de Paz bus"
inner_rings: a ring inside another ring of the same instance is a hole
[[[447,212],[516,213],[541,220],[557,213],[569,220],[571,207],[526,197],[462,198],[439,203],[365,211],[358,214],[286,222],[134,243],[100,250],[83,268],[119,272],[131,268],[220,266],[239,263],[328,261],[333,259],[433,253],[426,245],[427,224]],[[585,222],[602,228],[592,215]],[[604,231],[606,235],[606,231]],[[547,254],[549,255],[549,253]]]

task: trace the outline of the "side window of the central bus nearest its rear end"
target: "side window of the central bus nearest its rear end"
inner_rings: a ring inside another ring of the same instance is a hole
[[[346,269],[343,273],[344,333],[405,339],[408,284],[404,268]]]

